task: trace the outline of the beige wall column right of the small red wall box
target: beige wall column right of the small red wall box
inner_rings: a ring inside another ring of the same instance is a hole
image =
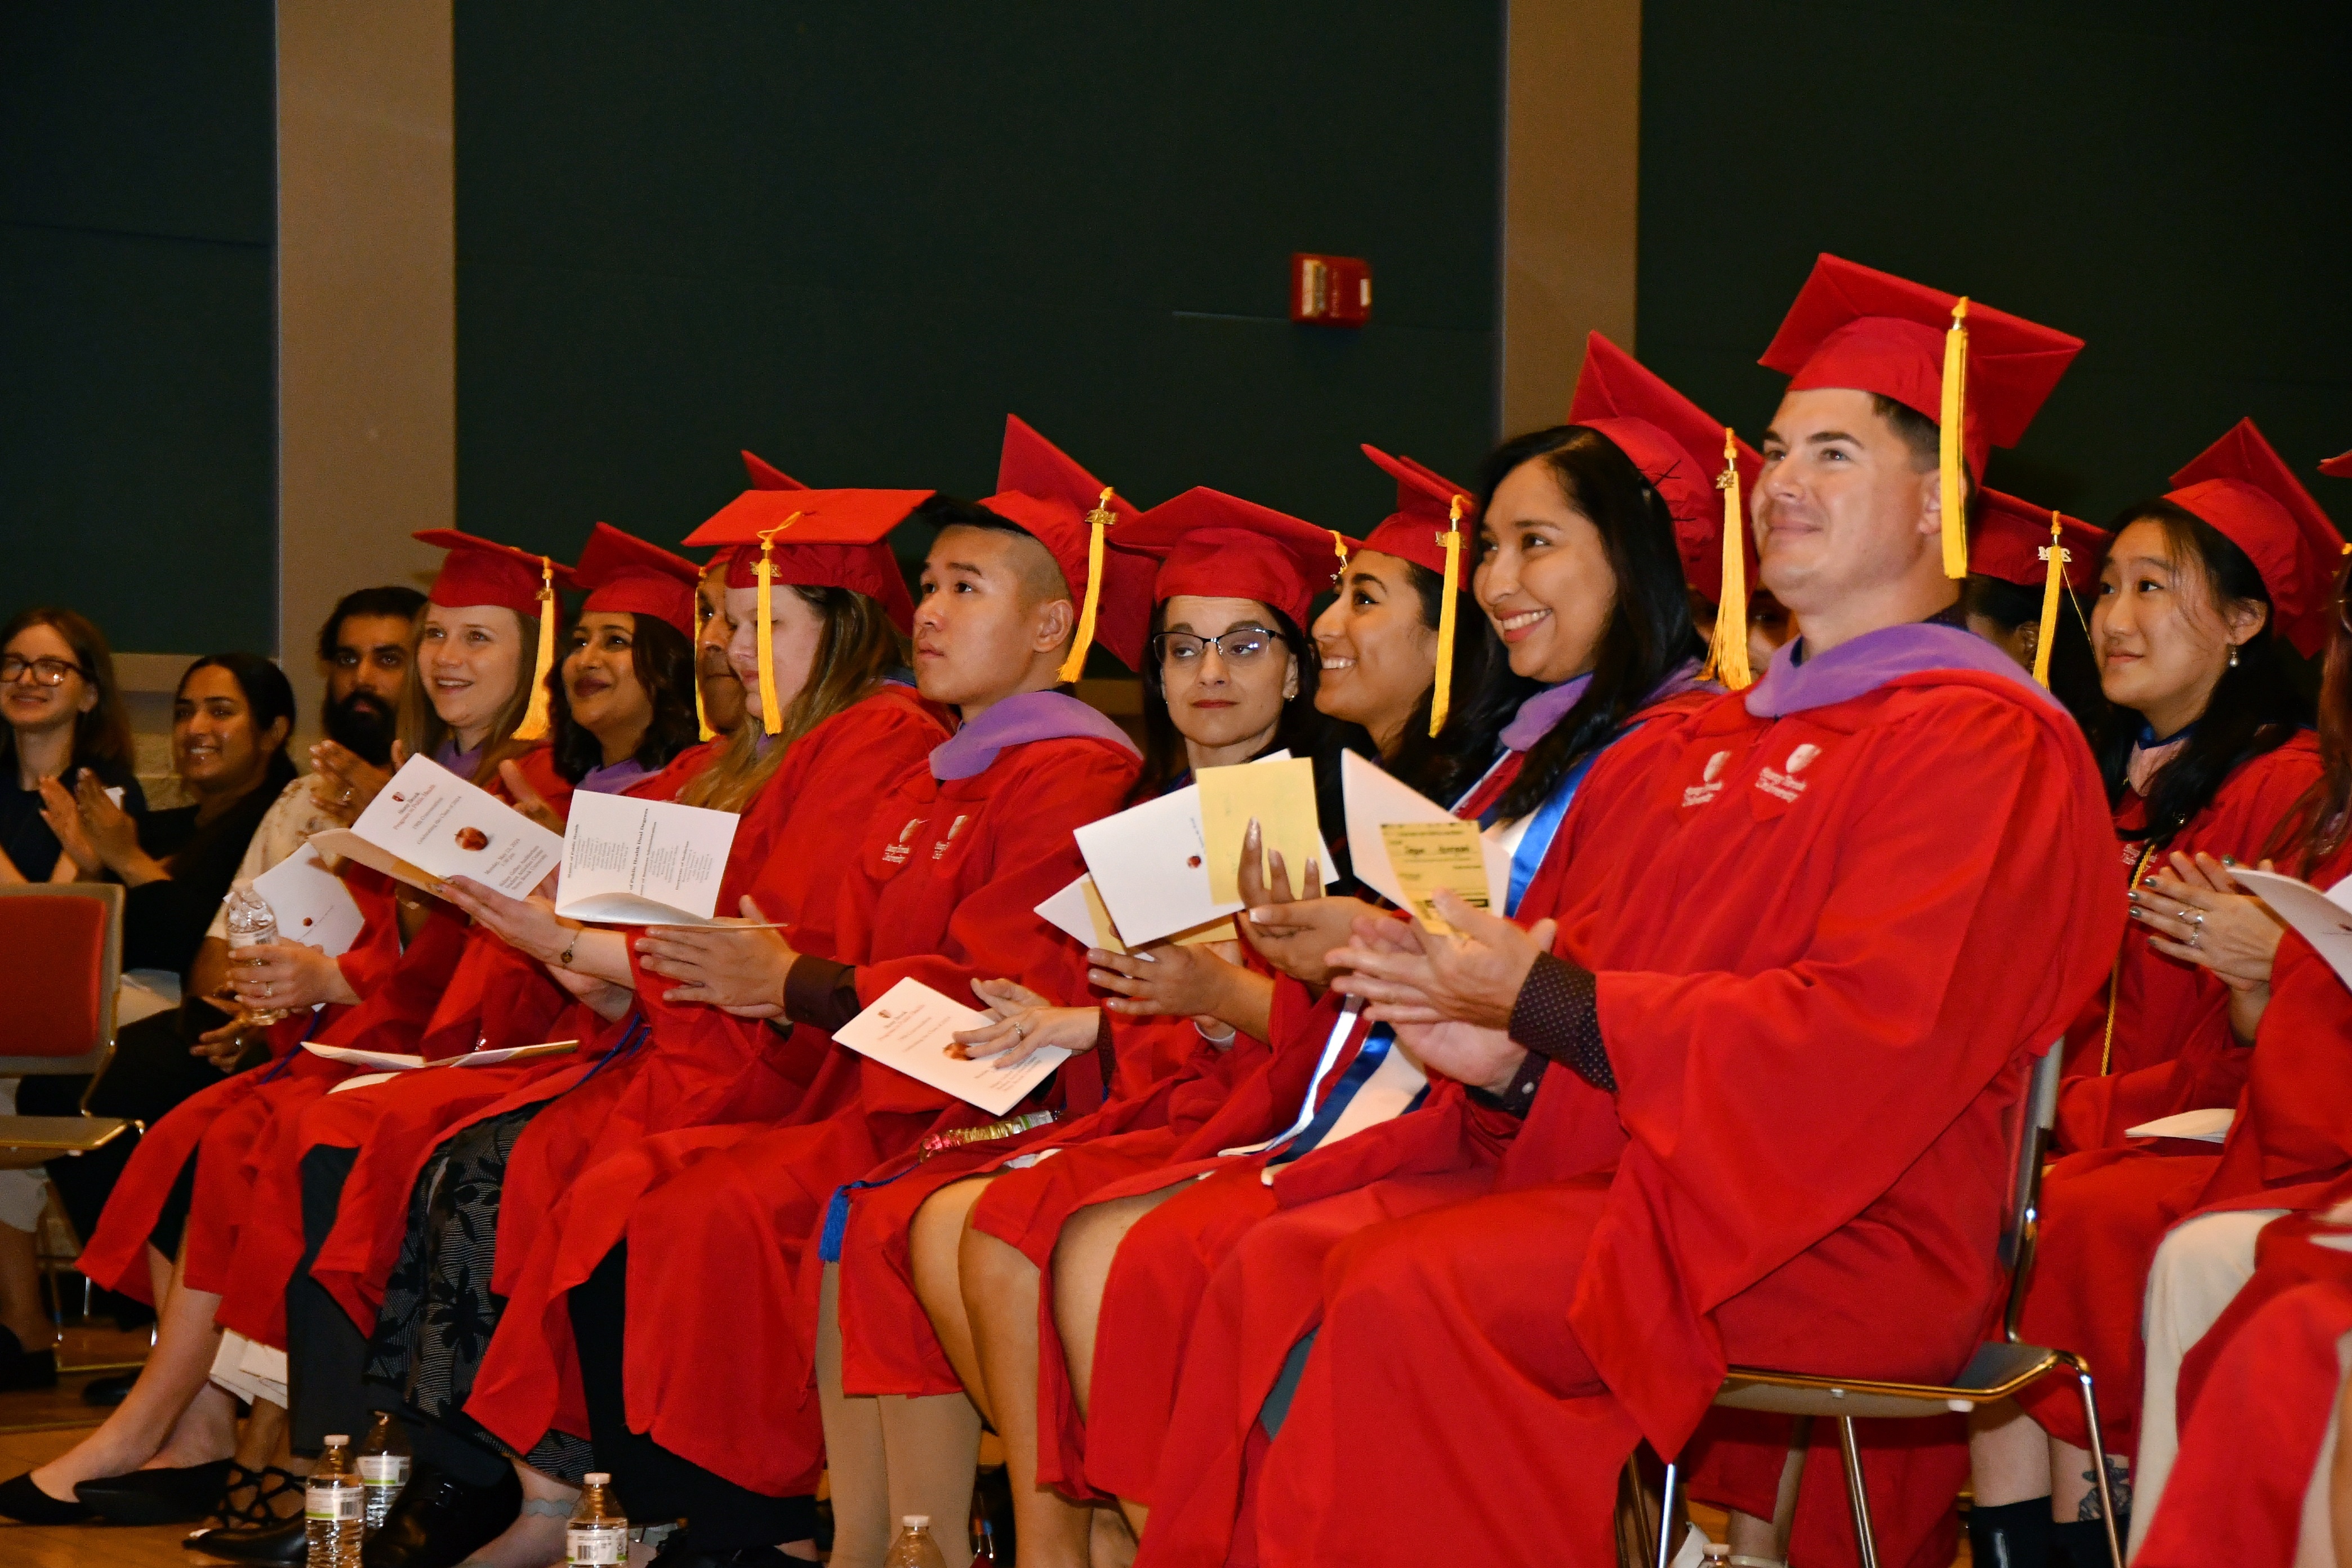
[[[1632,341],[1642,0],[1512,0],[1503,80],[1503,433],[1559,423],[1585,334]]]

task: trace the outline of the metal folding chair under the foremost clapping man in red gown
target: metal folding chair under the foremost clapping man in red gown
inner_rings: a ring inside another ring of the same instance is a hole
[[[1863,1568],[1879,1568],[1877,1537],[1870,1530],[1870,1493],[1863,1486],[1863,1450],[1853,1439],[1856,1420],[1917,1420],[1947,1410],[1973,1410],[2016,1396],[2058,1368],[2067,1368],[2082,1389],[2082,1410],[2091,1425],[2091,1476],[2098,1507],[2107,1523],[2107,1556],[2124,1568],[2124,1549],[2114,1535],[2114,1497],[2107,1490],[2107,1448],[2098,1432],[2098,1401],[2091,1394],[2091,1368],[2067,1349],[2044,1349],[2018,1342],[2018,1319],[2025,1312],[2025,1286],[2034,1272],[2034,1237],[2042,1227],[2042,1159],[2051,1128],[2058,1126],[2058,1060],[2065,1041],[2034,1060],[2032,1079],[2018,1100],[2016,1164],[2011,1166],[2009,1222],[2002,1227],[1999,1260],[2009,1269],[2009,1307],[2002,1314],[2002,1338],[1969,1356],[1947,1385],[1882,1382],[1875,1378],[1830,1378],[1820,1373],[1778,1373],[1759,1366],[1733,1366],[1724,1375],[1715,1403],[1736,1410],[1771,1410],[1776,1415],[1820,1415],[1837,1422],[1837,1446],[1846,1460],[1846,1500],[1853,1505],[1853,1537],[1860,1542]],[[1677,1467],[1665,1467],[1665,1493],[1658,1507],[1658,1568],[1675,1552],[1672,1519]]]

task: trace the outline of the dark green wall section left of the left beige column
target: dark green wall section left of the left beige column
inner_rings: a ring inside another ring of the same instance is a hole
[[[268,0],[0,7],[0,616],[275,646]]]

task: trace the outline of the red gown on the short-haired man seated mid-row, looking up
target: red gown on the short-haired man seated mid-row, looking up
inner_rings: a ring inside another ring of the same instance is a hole
[[[938,780],[929,766],[901,776],[866,818],[835,922],[830,957],[858,964],[858,999],[873,1004],[910,976],[950,997],[995,976],[1084,997],[1084,952],[1035,907],[1082,870],[1070,832],[1117,811],[1136,773],[1131,748],[1073,733],[1009,745],[971,778]],[[630,1429],[753,1490],[811,1490],[823,1453],[811,1349],[826,1204],[934,1126],[978,1121],[988,1117],[901,1072],[830,1051],[783,1124],[748,1135],[684,1128],[633,1150],[637,1171],[614,1171],[602,1190],[642,1192],[626,1232]],[[884,1314],[922,1316],[913,1295],[891,1300],[903,1248],[901,1232],[896,1248],[882,1239],[858,1258],[870,1269],[844,1265],[844,1328],[889,1333],[877,1328]],[[581,1276],[557,1276],[548,1295]],[[539,1413],[515,1425],[489,1371],[468,1413],[508,1443],[534,1439]],[[849,1368],[851,1389],[868,1392],[863,1373],[863,1361]]]

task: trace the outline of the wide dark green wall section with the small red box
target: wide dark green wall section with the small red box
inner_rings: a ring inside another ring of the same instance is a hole
[[[1143,503],[1369,527],[1392,487],[1357,442],[1463,473],[1494,433],[1498,28],[461,2],[459,522],[675,541],[736,447],[985,494],[1018,411]],[[1374,324],[1289,324],[1294,249],[1369,256]]]

